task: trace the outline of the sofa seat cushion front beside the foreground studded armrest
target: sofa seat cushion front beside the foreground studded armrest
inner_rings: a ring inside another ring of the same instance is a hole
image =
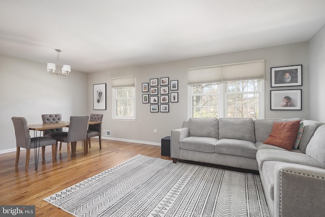
[[[274,168],[277,165],[278,161],[268,161],[263,164],[262,174],[266,186],[263,185],[264,191],[267,192],[268,195],[271,196],[272,200],[274,200]]]

